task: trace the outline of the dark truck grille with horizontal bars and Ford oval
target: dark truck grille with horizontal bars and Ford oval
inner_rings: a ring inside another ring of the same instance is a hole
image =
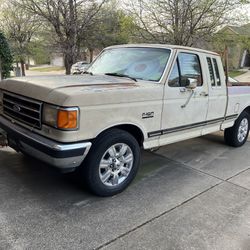
[[[41,129],[42,103],[19,95],[3,93],[3,113],[32,128]]]

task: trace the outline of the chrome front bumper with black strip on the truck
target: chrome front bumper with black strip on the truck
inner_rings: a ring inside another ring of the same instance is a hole
[[[9,146],[62,170],[76,168],[87,156],[91,142],[59,143],[20,127],[0,116],[0,128]]]

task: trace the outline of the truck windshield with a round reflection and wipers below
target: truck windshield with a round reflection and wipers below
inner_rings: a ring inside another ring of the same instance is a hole
[[[88,72],[93,74],[125,75],[135,79],[159,81],[169,56],[169,49],[107,49],[89,67]]]

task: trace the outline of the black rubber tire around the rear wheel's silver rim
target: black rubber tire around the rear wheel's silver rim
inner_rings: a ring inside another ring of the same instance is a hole
[[[240,140],[238,137],[238,134],[239,134],[240,125],[244,119],[247,119],[248,121],[248,129],[247,129],[247,134],[244,137],[244,140]],[[235,121],[234,126],[231,128],[227,128],[225,130],[224,139],[225,139],[226,144],[232,147],[241,147],[242,145],[244,145],[249,134],[249,124],[250,124],[249,114],[246,111],[243,111],[241,115],[237,118],[237,120]]]

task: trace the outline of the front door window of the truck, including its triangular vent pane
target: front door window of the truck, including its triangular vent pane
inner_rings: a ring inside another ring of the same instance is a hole
[[[201,65],[198,55],[179,53],[177,61],[169,77],[170,87],[185,87],[191,79],[197,80],[197,85],[202,85]]]

